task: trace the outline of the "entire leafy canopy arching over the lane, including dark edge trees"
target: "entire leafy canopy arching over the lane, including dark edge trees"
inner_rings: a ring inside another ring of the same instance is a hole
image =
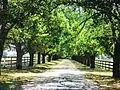
[[[120,77],[120,2],[2,0],[0,58],[5,41],[16,45],[18,63],[27,52],[57,54],[63,58],[104,53],[114,60],[113,76]]]

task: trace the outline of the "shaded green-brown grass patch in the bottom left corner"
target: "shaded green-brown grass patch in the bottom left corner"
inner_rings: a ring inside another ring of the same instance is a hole
[[[0,90],[17,90],[21,84],[34,79],[34,77],[13,77],[10,75],[0,76]]]

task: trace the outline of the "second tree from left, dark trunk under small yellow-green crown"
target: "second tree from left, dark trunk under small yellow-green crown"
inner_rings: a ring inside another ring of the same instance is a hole
[[[28,38],[28,34],[25,33],[23,28],[13,28],[8,33],[8,43],[15,45],[16,52],[17,52],[17,62],[16,62],[16,68],[22,69],[22,56],[27,53],[25,42]]]

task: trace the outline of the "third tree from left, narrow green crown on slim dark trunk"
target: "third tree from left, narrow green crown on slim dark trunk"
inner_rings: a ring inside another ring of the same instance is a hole
[[[37,41],[37,38],[41,34],[40,32],[40,16],[39,15],[33,15],[29,18],[29,20],[26,22],[25,31],[28,33],[29,37],[26,40],[26,50],[30,55],[30,62],[29,66],[33,66],[34,64],[34,54],[37,51],[39,47],[39,41]]]

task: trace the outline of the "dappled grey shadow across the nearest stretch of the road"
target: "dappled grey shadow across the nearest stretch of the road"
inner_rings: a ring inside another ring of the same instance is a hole
[[[57,77],[41,77],[21,87],[20,90],[99,90],[97,83],[86,80],[83,75],[68,73]]]

